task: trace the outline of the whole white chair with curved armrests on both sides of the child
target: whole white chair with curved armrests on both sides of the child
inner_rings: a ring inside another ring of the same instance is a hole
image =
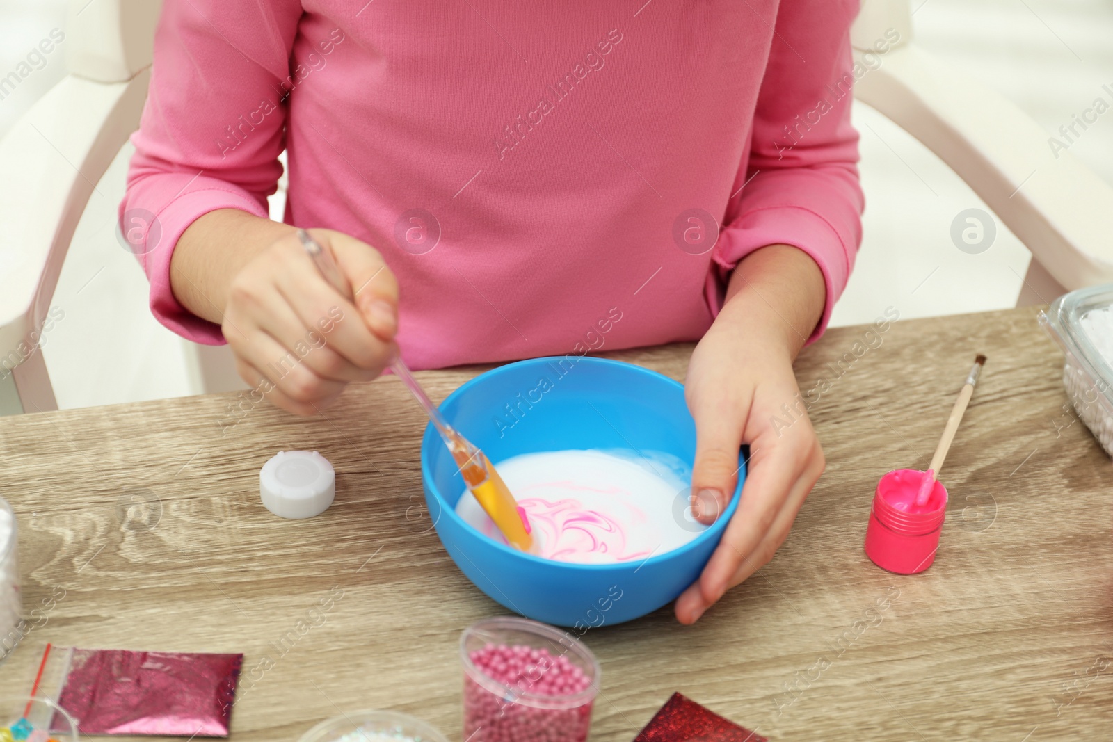
[[[139,123],[160,7],[71,0],[69,75],[0,141],[0,414],[57,408],[35,339],[93,184]],[[1113,281],[1113,188],[1070,152],[1055,158],[1013,103],[918,49],[908,0],[863,1],[857,58],[869,61],[889,29],[898,41],[855,96],[934,151],[1032,251],[1018,304]],[[229,388],[227,348],[196,347],[206,390]]]

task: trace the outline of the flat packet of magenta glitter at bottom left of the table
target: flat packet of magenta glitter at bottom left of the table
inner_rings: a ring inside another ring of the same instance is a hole
[[[72,650],[58,705],[81,734],[228,736],[243,654]]]

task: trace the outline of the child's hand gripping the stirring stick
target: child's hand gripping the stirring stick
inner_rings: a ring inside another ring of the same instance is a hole
[[[220,326],[243,379],[297,415],[319,413],[348,382],[375,378],[397,352],[398,283],[383,256],[343,233],[307,231],[332,250],[355,304],[292,231],[232,278]]]

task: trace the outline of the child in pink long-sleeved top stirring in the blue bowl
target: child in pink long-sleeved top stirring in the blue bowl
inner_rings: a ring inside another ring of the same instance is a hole
[[[792,360],[860,238],[854,0],[166,0],[120,205],[150,306],[279,407],[415,368],[699,340],[692,623],[824,469]],[[284,224],[267,219],[288,157]],[[138,225],[138,229],[132,227]],[[356,299],[295,233],[334,253]],[[326,329],[327,328],[327,329]],[[321,342],[323,338],[323,342]],[[797,422],[775,428],[788,404]]]

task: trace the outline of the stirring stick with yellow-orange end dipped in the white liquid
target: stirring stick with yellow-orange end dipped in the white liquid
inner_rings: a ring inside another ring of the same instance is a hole
[[[297,230],[297,238],[302,240],[305,251],[313,258],[313,263],[317,266],[317,270],[321,271],[322,277],[339,291],[341,295],[354,301],[355,296],[352,293],[352,287],[333,259],[332,253],[313,239],[304,229]],[[472,491],[476,502],[483,507],[491,521],[494,522],[499,531],[502,532],[502,535],[506,537],[506,541],[512,546],[523,552],[530,551],[533,547],[533,536],[531,535],[532,530],[530,528],[529,518],[525,516],[525,511],[518,506],[514,495],[511,494],[510,488],[502,481],[502,477],[499,476],[491,459],[475,444],[449,425],[449,422],[441,415],[441,410],[436,408],[433,400],[425,394],[425,389],[414,378],[410,367],[402,360],[401,355],[396,355],[394,360],[391,362],[391,369],[406,388],[410,389],[414,398],[425,409],[430,419],[433,421],[433,426],[441,434],[444,445],[449,447],[452,457],[456,461],[456,465],[460,466],[460,474],[464,477],[464,482],[467,483],[467,488]]]

